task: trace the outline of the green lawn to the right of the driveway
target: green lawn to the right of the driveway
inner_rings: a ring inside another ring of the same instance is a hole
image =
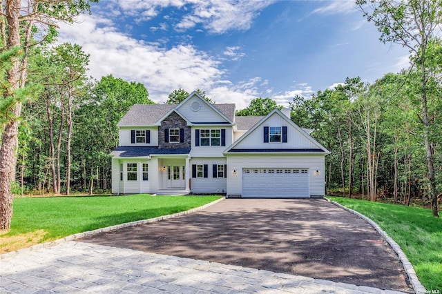
[[[442,293],[442,219],[429,209],[329,197],[372,219],[401,246],[428,291]]]

